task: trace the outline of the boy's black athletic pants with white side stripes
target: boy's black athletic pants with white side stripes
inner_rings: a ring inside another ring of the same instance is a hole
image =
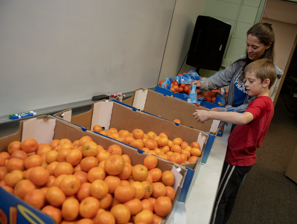
[[[224,161],[210,224],[224,224],[228,221],[235,204],[239,184],[251,169],[252,166],[231,166]]]

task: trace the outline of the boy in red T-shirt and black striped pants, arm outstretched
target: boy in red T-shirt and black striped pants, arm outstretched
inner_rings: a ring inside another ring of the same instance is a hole
[[[230,217],[239,183],[256,161],[256,148],[260,147],[273,117],[273,102],[269,89],[277,74],[270,59],[259,59],[244,69],[244,86],[249,96],[256,96],[244,113],[196,110],[196,121],[209,119],[237,124],[228,138],[226,157],[221,173],[217,197],[210,223],[226,223]]]

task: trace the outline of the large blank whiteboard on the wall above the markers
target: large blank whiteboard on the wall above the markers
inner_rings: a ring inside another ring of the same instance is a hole
[[[153,88],[175,0],[1,0],[0,116]]]

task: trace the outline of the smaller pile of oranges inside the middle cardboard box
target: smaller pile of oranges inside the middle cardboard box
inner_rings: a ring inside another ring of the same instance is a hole
[[[102,130],[101,126],[95,125],[93,131],[96,130]],[[170,140],[163,132],[159,135],[153,131],[145,134],[141,129],[135,129],[130,133],[127,130],[118,131],[115,128],[110,128],[99,131],[99,133],[181,165],[195,162],[196,158],[201,156],[199,143],[193,142],[189,145],[178,137]]]

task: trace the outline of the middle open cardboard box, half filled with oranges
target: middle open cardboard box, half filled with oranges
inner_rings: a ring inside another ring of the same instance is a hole
[[[71,116],[71,109],[68,109],[54,114],[54,117],[63,118],[64,121],[80,125],[88,130],[92,130],[94,125],[100,125],[105,129],[116,128],[117,130],[128,130],[130,132],[137,128],[143,130],[144,133],[153,131],[160,134],[164,132],[170,140],[179,137],[188,143],[198,142],[201,147],[201,156],[195,162],[183,165],[189,169],[186,177],[188,187],[183,187],[178,199],[180,202],[185,202],[188,191],[192,189],[201,165],[200,160],[203,157],[205,144],[209,138],[209,134],[205,132],[178,125],[146,112],[140,112],[136,108],[127,107],[127,105],[122,105],[118,101],[101,100],[93,102],[92,108],[88,112]]]

